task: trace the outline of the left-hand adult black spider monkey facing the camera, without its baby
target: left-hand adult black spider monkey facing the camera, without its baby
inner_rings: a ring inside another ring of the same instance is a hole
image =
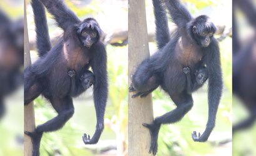
[[[54,47],[51,47],[48,31],[45,31],[47,20],[43,5],[54,16],[58,26],[64,30],[63,36]],[[84,134],[82,140],[84,144],[96,144],[104,129],[108,93],[106,50],[99,40],[102,34],[101,28],[93,18],[80,21],[61,0],[32,0],[32,9],[36,23],[39,59],[25,69],[24,104],[29,104],[42,94],[51,102],[58,114],[54,119],[38,125],[33,132],[25,132],[33,143],[32,155],[39,155],[43,132],[61,129],[74,114],[72,97],[81,94],[77,90],[85,84],[81,80],[87,78],[81,79],[81,77],[88,72],[89,67],[92,67],[94,72],[94,76],[89,73],[94,79],[89,79],[94,82],[97,124],[92,138]],[[44,39],[47,41],[43,41]],[[73,77],[69,76],[70,71],[75,72]]]

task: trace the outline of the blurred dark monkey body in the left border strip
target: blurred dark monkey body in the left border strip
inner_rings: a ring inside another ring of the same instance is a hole
[[[23,62],[23,19],[12,21],[0,10],[0,119],[6,110],[4,98],[22,84]]]

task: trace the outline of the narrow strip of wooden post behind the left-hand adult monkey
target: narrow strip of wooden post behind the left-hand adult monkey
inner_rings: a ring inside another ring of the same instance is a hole
[[[24,1],[24,69],[31,65],[29,52],[29,36],[27,33],[26,1]],[[34,104],[24,106],[24,130],[32,132],[35,129]],[[32,142],[30,137],[24,134],[24,155],[32,156]]]

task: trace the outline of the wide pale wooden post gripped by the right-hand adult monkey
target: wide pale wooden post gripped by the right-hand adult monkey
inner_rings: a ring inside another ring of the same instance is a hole
[[[149,44],[147,38],[147,22],[145,17],[145,1],[129,0],[128,2],[128,51],[129,51],[129,84],[130,76],[135,68],[147,57],[149,57]],[[151,94],[141,99],[131,98],[129,94],[128,112],[128,155],[150,155],[150,134],[142,123],[152,123],[153,109]]]

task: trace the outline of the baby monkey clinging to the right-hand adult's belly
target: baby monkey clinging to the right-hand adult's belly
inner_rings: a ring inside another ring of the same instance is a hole
[[[187,92],[192,93],[202,87],[204,82],[208,79],[208,72],[205,66],[195,67],[195,71],[190,73],[189,67],[184,67],[183,72],[187,78]]]

